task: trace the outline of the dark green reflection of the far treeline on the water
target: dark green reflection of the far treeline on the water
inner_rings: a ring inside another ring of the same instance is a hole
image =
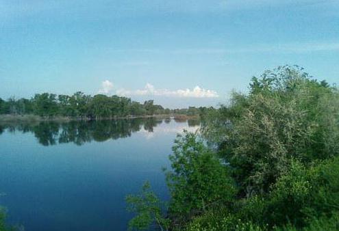
[[[161,124],[162,120],[155,118],[130,120],[99,120],[99,121],[71,121],[71,122],[22,122],[0,124],[0,135],[3,131],[14,133],[34,133],[38,142],[43,146],[73,143],[79,146],[94,141],[107,141],[130,137],[131,133],[142,128],[152,133],[153,128]]]

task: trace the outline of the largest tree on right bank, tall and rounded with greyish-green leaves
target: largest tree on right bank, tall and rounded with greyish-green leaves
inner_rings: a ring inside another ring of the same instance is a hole
[[[290,160],[310,163],[339,152],[339,94],[290,66],[253,77],[249,94],[203,124],[210,144],[234,167],[242,193],[267,193]]]

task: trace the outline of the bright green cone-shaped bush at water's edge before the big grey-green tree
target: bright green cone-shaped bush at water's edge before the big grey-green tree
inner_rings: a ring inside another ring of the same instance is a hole
[[[171,171],[166,171],[171,193],[169,213],[185,220],[216,206],[231,203],[236,189],[227,168],[217,159],[197,134],[177,135]]]

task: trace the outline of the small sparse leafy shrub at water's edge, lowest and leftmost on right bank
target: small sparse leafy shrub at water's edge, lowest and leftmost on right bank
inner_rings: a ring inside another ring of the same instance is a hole
[[[162,215],[162,202],[145,182],[139,195],[127,195],[127,210],[137,215],[129,221],[129,230],[147,230],[156,223],[161,230],[168,230],[169,220]]]

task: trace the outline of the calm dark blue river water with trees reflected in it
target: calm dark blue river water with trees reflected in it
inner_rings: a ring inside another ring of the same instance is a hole
[[[125,195],[150,180],[168,198],[161,167],[175,134],[198,122],[116,120],[0,124],[0,204],[26,231],[126,230]]]

